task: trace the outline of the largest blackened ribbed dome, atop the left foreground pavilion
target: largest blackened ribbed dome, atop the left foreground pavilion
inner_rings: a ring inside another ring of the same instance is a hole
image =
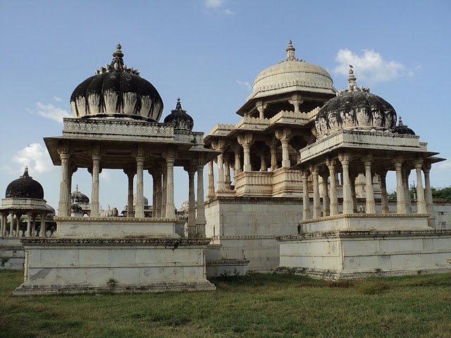
[[[75,118],[102,116],[159,121],[163,100],[155,87],[123,62],[121,44],[116,46],[113,61],[100,67],[70,96],[70,108]]]

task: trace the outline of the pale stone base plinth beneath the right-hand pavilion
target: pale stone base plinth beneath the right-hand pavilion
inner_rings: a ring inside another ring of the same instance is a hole
[[[339,279],[451,271],[451,230],[335,230],[278,237],[279,272]]]

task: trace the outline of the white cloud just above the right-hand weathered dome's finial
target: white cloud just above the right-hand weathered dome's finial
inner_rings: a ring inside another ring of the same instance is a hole
[[[377,82],[395,80],[405,75],[414,75],[414,70],[408,69],[402,63],[386,61],[381,54],[369,49],[364,49],[362,55],[358,55],[349,49],[340,49],[335,56],[335,61],[338,62],[338,65],[333,70],[334,73],[348,75],[350,65],[352,65],[354,75],[357,77],[357,84],[363,84],[365,87]],[[415,70],[420,68],[421,65],[417,65]]]

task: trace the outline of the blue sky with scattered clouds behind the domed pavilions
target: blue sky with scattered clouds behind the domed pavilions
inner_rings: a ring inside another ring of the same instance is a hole
[[[194,130],[207,133],[237,123],[255,77],[285,58],[292,39],[296,56],[328,70],[339,90],[352,64],[359,86],[390,102],[429,150],[451,158],[450,18],[449,0],[0,0],[1,196],[28,165],[57,208],[61,167],[43,137],[62,134],[70,94],[111,62],[118,42],[128,67],[159,91],[163,118],[180,96]],[[122,210],[127,177],[104,170],[100,180],[101,206]],[[74,174],[75,184],[90,196],[87,170]],[[450,160],[433,165],[431,184],[451,185]],[[177,208],[187,185],[179,168]],[[144,195],[151,189],[146,175]]]

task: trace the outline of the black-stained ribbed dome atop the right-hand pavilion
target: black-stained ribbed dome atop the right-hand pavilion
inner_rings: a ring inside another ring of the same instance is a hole
[[[357,88],[354,71],[350,69],[348,88],[330,99],[316,115],[318,136],[340,129],[393,130],[395,108],[369,89]]]

